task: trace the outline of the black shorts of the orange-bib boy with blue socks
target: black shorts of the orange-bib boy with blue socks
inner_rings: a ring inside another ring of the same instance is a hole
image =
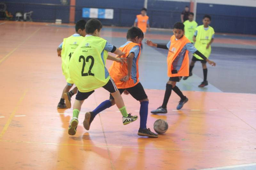
[[[122,94],[124,92],[124,90],[127,90],[131,94],[131,96],[138,101],[148,98],[141,83],[138,83],[137,85],[127,88],[127,89],[118,89],[118,90],[119,90],[120,94]],[[114,97],[110,94],[109,99],[114,100]]]

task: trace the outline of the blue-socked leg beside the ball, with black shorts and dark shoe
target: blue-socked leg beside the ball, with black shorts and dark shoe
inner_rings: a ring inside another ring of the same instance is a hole
[[[147,119],[148,119],[148,96],[141,85],[138,83],[134,87],[126,89],[131,96],[140,101],[140,129],[138,131],[139,136],[147,137],[158,137],[155,133],[151,132],[150,129],[147,129]]]

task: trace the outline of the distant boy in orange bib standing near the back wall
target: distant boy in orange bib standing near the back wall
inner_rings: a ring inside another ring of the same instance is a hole
[[[141,31],[145,35],[147,32],[147,27],[148,27],[148,32],[150,32],[149,20],[148,20],[148,16],[147,16],[147,9],[142,8],[140,13],[141,14],[136,16],[133,26],[137,26],[138,28],[140,28]],[[142,41],[141,41],[140,45],[142,48]]]

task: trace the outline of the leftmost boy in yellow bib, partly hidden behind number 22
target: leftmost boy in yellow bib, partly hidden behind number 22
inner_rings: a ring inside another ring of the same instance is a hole
[[[61,67],[62,67],[62,72],[63,75],[66,78],[67,81],[67,85],[64,87],[61,98],[60,98],[60,102],[57,106],[57,108],[70,108],[71,107],[71,97],[76,94],[77,92],[77,87],[75,87],[74,89],[72,89],[70,92],[69,90],[71,89],[71,87],[73,86],[73,81],[70,78],[69,75],[69,70],[68,70],[68,64],[69,64],[69,60],[71,58],[71,55],[73,54],[73,52],[75,51],[75,49],[78,47],[78,45],[80,44],[80,42],[83,40],[84,36],[85,36],[85,24],[86,21],[84,19],[81,19],[79,21],[76,22],[76,33],[71,35],[68,38],[64,38],[63,42],[59,45],[59,47],[57,48],[57,53],[58,56],[61,57]],[[66,101],[66,104],[65,104]]]

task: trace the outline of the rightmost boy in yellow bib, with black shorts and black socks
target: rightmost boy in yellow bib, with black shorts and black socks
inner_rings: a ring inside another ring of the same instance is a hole
[[[203,25],[198,26],[196,28],[196,32],[194,34],[194,41],[195,41],[195,47],[200,52],[202,52],[207,58],[209,58],[211,54],[211,44],[214,40],[214,29],[209,26],[211,23],[211,16],[210,15],[204,15],[203,18]],[[189,76],[184,77],[183,80],[187,80],[188,77],[192,76],[192,69],[196,63],[196,61],[200,61],[202,63],[203,67],[203,73],[204,73],[204,81],[198,85],[198,87],[204,87],[208,85],[207,81],[207,66],[206,61],[202,60],[202,58],[196,54],[193,55],[192,61],[189,66]]]

